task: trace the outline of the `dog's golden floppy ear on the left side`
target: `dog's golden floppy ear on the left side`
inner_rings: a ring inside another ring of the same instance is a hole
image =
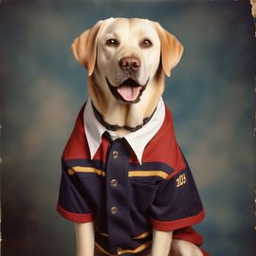
[[[91,76],[96,64],[97,37],[103,21],[99,21],[94,27],[84,31],[76,38],[71,46],[76,60],[86,67],[88,76]]]

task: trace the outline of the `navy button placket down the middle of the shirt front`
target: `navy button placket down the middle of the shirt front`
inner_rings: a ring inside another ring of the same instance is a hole
[[[125,143],[124,139],[113,141],[106,166],[107,223],[111,237],[109,242],[111,247],[116,247],[116,249],[123,245],[124,237],[127,240],[130,239],[128,227],[123,229],[123,225],[119,225],[120,222],[126,223],[128,218],[126,205],[129,155],[127,155]]]

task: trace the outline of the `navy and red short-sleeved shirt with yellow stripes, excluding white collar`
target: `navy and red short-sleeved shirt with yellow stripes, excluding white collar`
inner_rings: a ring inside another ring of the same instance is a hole
[[[94,220],[96,248],[104,255],[146,255],[153,228],[174,230],[174,238],[200,247],[202,237],[191,226],[204,210],[171,111],[164,106],[161,126],[138,159],[125,137],[112,140],[107,133],[91,155],[85,104],[62,155],[58,212],[76,223]]]

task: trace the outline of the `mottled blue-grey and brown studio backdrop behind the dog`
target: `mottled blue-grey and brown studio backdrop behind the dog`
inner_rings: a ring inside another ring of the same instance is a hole
[[[211,255],[256,255],[255,37],[247,1],[1,2],[2,255],[75,255],[74,226],[55,212],[60,157],[87,97],[70,45],[110,16],[158,21],[182,42],[164,99],[207,213],[197,229]]]

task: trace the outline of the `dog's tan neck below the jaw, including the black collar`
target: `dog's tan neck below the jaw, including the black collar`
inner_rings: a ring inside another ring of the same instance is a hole
[[[111,101],[111,93],[107,95],[93,76],[88,77],[88,92],[97,110],[96,117],[108,130],[116,130],[122,136],[141,128],[154,114],[157,103],[163,93],[164,76],[161,74],[152,81],[135,104],[124,104]],[[99,115],[100,114],[100,115]]]

